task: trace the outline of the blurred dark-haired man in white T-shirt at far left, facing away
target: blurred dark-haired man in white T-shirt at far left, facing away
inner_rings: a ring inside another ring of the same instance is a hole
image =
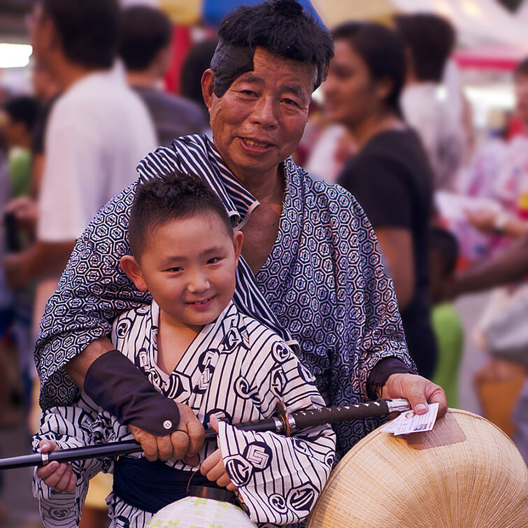
[[[38,320],[76,239],[99,208],[135,180],[136,164],[157,145],[143,101],[113,68],[120,16],[117,0],[43,0],[34,12],[34,54],[62,95],[46,129],[38,213],[34,204],[13,208],[15,216],[33,215],[36,243],[3,264],[13,288],[41,280]],[[107,484],[101,495],[109,491]],[[103,526],[104,501],[99,504],[87,508],[94,519],[83,519],[83,526]]]

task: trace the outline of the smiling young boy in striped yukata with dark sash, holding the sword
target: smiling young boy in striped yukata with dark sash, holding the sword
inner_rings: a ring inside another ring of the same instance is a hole
[[[143,527],[152,513],[185,496],[199,466],[217,485],[238,488],[254,522],[306,518],[331,470],[333,431],[316,427],[287,438],[230,425],[269,417],[278,401],[290,412],[324,405],[290,348],[231,301],[242,239],[199,178],[138,184],[129,219],[132,255],[120,264],[138,290],[150,292],[152,304],[117,317],[112,341],[162,394],[190,406],[204,425],[211,422],[219,448],[206,443],[194,466],[139,455],[51,462],[34,478],[46,527],[78,525],[88,481],[99,471],[114,473],[111,526]],[[45,413],[34,445],[50,450],[131,438],[126,426],[81,394],[76,406]]]

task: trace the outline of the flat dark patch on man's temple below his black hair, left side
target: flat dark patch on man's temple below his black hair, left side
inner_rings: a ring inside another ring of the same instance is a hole
[[[236,46],[224,41],[218,43],[211,60],[211,70],[215,74],[213,91],[216,97],[222,97],[234,83],[234,80],[255,69],[254,57],[254,48]],[[317,75],[317,69],[314,70],[313,84],[315,84],[315,76]],[[292,91],[295,90],[292,89]],[[299,96],[302,95],[306,96],[306,94],[299,94]],[[310,97],[311,94],[307,95]]]

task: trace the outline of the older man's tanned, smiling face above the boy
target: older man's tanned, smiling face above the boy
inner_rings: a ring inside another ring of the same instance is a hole
[[[253,71],[208,103],[215,146],[241,181],[276,176],[308,120],[314,71],[257,48]]]

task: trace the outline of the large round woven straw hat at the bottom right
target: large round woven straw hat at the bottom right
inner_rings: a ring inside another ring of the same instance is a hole
[[[528,527],[528,469],[498,427],[450,409],[432,431],[378,427],[332,471],[307,528]]]

